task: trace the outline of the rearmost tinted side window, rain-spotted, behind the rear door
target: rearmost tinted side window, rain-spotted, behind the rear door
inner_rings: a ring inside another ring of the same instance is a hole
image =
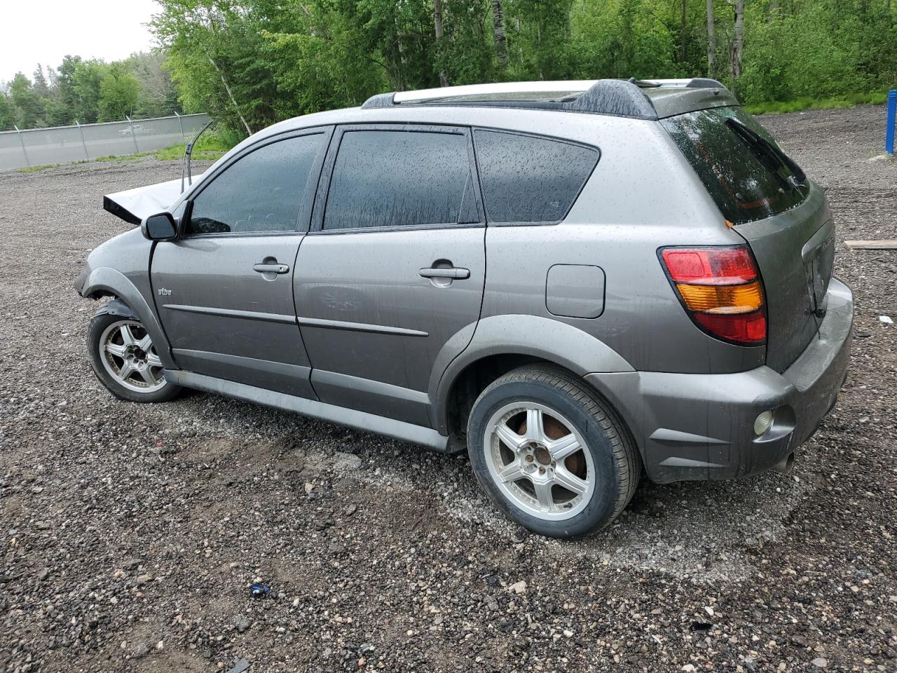
[[[597,150],[532,135],[475,132],[490,222],[558,222],[570,211]]]

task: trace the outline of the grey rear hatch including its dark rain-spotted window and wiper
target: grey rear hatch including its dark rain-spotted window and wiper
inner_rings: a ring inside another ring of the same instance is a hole
[[[825,311],[834,226],[823,191],[744,109],[661,123],[751,247],[766,293],[766,363],[784,371],[817,335]]]

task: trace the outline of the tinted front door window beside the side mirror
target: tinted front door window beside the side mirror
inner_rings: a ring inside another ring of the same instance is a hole
[[[322,138],[280,140],[239,159],[196,197],[187,234],[296,231]]]

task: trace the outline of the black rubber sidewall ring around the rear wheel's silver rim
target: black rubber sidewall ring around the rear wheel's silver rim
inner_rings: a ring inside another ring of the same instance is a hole
[[[513,402],[535,402],[554,409],[567,418],[586,441],[586,450],[595,465],[595,489],[591,501],[579,514],[564,520],[543,520],[518,508],[501,493],[492,480],[486,463],[483,441],[486,424],[492,415]],[[614,517],[620,484],[613,457],[613,448],[597,418],[575,399],[536,380],[507,381],[487,389],[479,398],[467,426],[467,450],[474,474],[489,498],[510,519],[540,535],[554,538],[576,538],[595,532]]]

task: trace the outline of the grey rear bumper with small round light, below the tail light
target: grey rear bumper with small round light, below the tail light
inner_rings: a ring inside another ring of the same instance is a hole
[[[853,296],[835,278],[819,334],[787,370],[734,374],[656,371],[588,374],[629,424],[659,483],[749,476],[781,463],[834,406],[847,375]],[[753,421],[773,410],[760,437]]]

